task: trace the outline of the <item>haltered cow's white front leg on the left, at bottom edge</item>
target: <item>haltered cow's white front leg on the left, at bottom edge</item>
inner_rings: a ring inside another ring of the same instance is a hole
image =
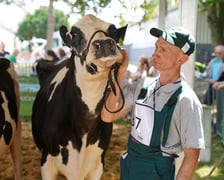
[[[50,155],[47,156],[47,161],[41,166],[42,180],[56,180],[58,171],[54,164],[54,158]]]

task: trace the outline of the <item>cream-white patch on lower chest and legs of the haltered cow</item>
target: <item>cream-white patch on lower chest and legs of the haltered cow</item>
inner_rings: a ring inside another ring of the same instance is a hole
[[[58,172],[68,180],[84,180],[91,176],[92,180],[99,180],[103,173],[101,154],[103,150],[98,147],[99,141],[86,147],[87,135],[82,138],[80,152],[73,148],[69,141],[66,148],[69,151],[69,159],[66,165],[62,164],[62,156],[47,156],[47,162],[41,167],[43,180],[54,179]],[[62,147],[61,147],[62,148]]]

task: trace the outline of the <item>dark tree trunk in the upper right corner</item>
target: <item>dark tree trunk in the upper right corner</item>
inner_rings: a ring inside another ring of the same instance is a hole
[[[207,16],[212,44],[224,44],[224,0],[199,0],[199,10]]]

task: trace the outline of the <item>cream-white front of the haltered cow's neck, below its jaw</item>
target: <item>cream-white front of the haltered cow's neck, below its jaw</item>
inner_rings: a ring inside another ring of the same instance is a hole
[[[108,72],[96,75],[76,74],[76,82],[81,89],[82,100],[88,105],[90,111],[95,111],[97,104],[103,97],[107,85],[107,76]]]

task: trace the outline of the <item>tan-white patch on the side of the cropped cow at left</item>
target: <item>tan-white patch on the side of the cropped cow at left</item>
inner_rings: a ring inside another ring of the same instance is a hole
[[[13,133],[12,134],[12,139],[13,139],[13,136],[15,134],[15,129],[16,129],[16,123],[15,123],[15,120],[13,120],[12,117],[10,116],[9,109],[8,109],[8,100],[5,96],[5,93],[3,91],[0,91],[0,93],[1,93],[1,96],[4,100],[4,103],[1,104],[1,106],[2,106],[2,108],[4,110],[4,113],[5,113],[5,121],[9,122],[12,126],[12,133]],[[4,128],[5,127],[3,126],[3,129]],[[12,142],[12,139],[10,140],[10,144]],[[6,145],[3,136],[1,136],[1,138],[0,138],[0,155],[5,153],[9,149],[10,144]]]

